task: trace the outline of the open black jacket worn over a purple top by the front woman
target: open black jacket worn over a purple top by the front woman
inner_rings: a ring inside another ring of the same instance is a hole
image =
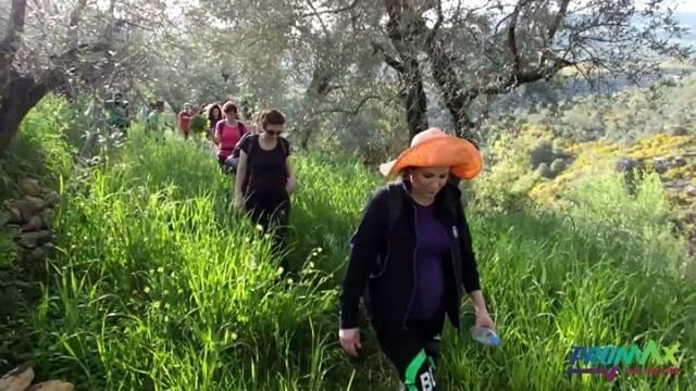
[[[361,297],[373,321],[406,326],[415,293],[415,206],[407,192],[408,184],[396,186],[403,191],[403,202],[394,230],[387,232],[388,194],[384,187],[370,199],[351,238],[350,260],[339,295],[340,328],[358,327]],[[451,248],[444,263],[445,305],[451,323],[459,328],[462,290],[469,293],[481,289],[478,272],[460,190],[446,185],[436,195],[435,204]]]

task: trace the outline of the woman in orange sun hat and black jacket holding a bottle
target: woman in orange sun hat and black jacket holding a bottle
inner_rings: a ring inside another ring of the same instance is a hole
[[[436,390],[433,369],[445,315],[459,329],[462,292],[475,306],[475,326],[495,328],[478,285],[461,192],[448,184],[449,175],[471,179],[482,166],[467,140],[437,128],[415,135],[398,159],[380,166],[383,175],[398,174],[400,180],[373,193],[351,238],[339,295],[340,345],[353,356],[361,348],[362,298],[402,389]]]

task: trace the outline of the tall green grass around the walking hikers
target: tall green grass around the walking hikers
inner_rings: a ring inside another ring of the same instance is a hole
[[[278,278],[268,238],[231,207],[232,180],[204,142],[136,130],[112,159],[63,182],[59,253],[47,261],[24,331],[39,376],[86,390],[395,389],[369,328],[357,360],[336,343],[348,239],[383,179],[341,157],[295,162],[288,279]],[[660,234],[661,217],[646,207],[660,199],[656,185],[646,181],[644,198],[620,199],[632,211],[625,217],[601,201],[613,182],[596,184],[577,188],[568,215],[469,211],[502,344],[472,341],[465,303],[464,330],[446,328],[443,389],[696,386],[696,286],[667,258],[680,243]],[[611,218],[625,224],[606,224]],[[627,240],[632,225],[641,234]],[[573,345],[648,339],[681,343],[679,376],[619,375],[609,383],[564,374]]]

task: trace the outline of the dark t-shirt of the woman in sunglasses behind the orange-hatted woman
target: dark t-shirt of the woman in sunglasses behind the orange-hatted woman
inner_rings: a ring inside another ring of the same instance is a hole
[[[266,151],[259,144],[259,136],[249,136],[241,141],[241,150],[247,154],[248,185],[246,193],[277,193],[285,191],[290,143],[278,137],[275,148]]]

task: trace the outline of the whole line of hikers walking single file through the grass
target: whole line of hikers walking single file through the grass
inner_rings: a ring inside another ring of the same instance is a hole
[[[159,102],[156,111],[161,112]],[[187,104],[182,113],[179,129],[188,138],[195,111]],[[207,117],[219,166],[234,174],[235,207],[271,232],[273,249],[282,250],[297,188],[290,144],[281,137],[285,115],[265,110],[249,125],[228,101],[209,105]],[[150,118],[148,129],[160,126],[157,118],[150,125]],[[438,128],[419,133],[396,160],[380,166],[384,176],[398,180],[374,191],[350,238],[338,297],[338,341],[348,355],[358,355],[362,306],[401,390],[438,389],[434,370],[445,319],[460,329],[464,294],[475,308],[474,328],[495,330],[457,186],[482,167],[471,142]],[[278,257],[287,269],[285,257]]]

